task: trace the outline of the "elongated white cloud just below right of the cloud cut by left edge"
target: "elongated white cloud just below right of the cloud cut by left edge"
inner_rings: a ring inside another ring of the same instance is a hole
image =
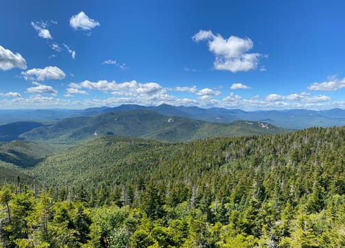
[[[33,68],[22,72],[24,79],[44,81],[46,79],[64,79],[66,74],[57,66],[48,66],[45,68]]]

